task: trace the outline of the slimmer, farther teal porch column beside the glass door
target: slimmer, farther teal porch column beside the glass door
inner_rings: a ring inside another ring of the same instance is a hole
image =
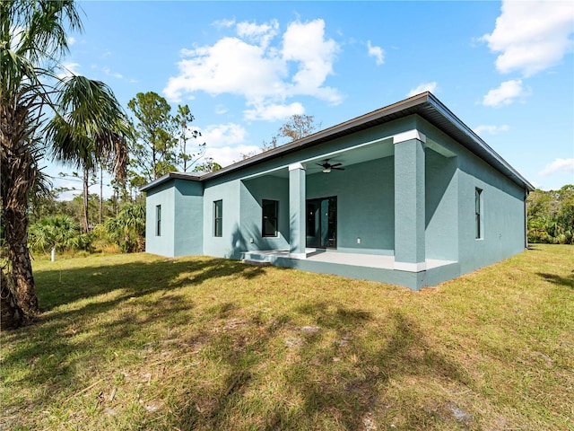
[[[289,165],[289,257],[305,259],[305,165]]]

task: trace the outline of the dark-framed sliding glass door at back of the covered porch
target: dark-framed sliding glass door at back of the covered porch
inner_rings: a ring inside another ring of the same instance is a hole
[[[307,201],[307,247],[337,247],[337,197]]]

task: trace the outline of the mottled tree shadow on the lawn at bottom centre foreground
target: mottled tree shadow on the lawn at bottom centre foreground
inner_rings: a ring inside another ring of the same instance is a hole
[[[372,320],[369,312],[329,301],[309,303],[296,312],[306,314],[317,326],[307,327],[312,331],[302,335],[305,327],[298,329],[302,343],[297,351],[299,359],[282,363],[283,382],[278,387],[283,386],[283,391],[275,394],[278,400],[271,409],[254,406],[252,403],[257,401],[253,397],[248,401],[244,397],[265,393],[259,370],[269,356],[269,344],[274,337],[281,337],[281,329],[292,326],[290,319],[283,319],[280,326],[268,326],[265,334],[251,343],[241,342],[243,335],[239,334],[230,335],[232,340],[225,342],[221,338],[212,339],[218,346],[226,346],[213,357],[213,361],[222,364],[222,370],[228,370],[222,389],[212,393],[188,391],[186,404],[172,409],[178,413],[170,426],[181,430],[248,427],[271,431],[317,429],[319,424],[320,429],[332,429],[337,424],[337,429],[360,430],[366,427],[365,418],[380,408],[381,400],[393,402],[386,399],[386,392],[391,382],[405,375],[430,380],[439,376],[458,384],[471,381],[463,369],[426,346],[422,330],[402,312],[391,313],[378,348],[374,349],[367,347],[364,339],[354,338]],[[335,343],[323,342],[322,331],[326,329],[336,331]],[[345,356],[356,360],[349,364]],[[295,400],[300,400],[297,409],[293,409],[289,400],[292,394],[297,394]],[[436,425],[437,421],[454,427],[461,425],[451,413],[439,409],[413,409],[403,428],[421,429],[425,423]],[[259,416],[257,427],[253,423],[235,423],[233,420],[241,415]]]

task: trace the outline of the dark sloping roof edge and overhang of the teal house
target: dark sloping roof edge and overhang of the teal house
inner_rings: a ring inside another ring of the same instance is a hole
[[[162,182],[172,178],[198,181],[210,180],[230,172],[238,171],[247,166],[272,160],[276,157],[290,154],[303,148],[320,145],[339,137],[352,135],[353,133],[360,132],[361,130],[372,128],[395,119],[402,119],[413,114],[417,114],[422,117],[422,119],[426,119],[433,126],[442,130],[461,145],[464,145],[469,151],[481,157],[486,163],[491,164],[491,166],[502,172],[519,186],[531,191],[535,189],[530,182],[528,182],[522,175],[520,175],[520,173],[510,166],[508,162],[500,157],[500,155],[487,145],[480,136],[476,135],[471,128],[468,128],[465,123],[448,110],[448,108],[431,92],[422,92],[421,94],[417,94],[405,99],[404,101],[397,101],[392,105],[388,105],[378,110],[373,110],[372,112],[361,115],[361,117],[357,117],[356,119],[350,119],[344,123],[333,126],[332,128],[326,128],[325,130],[321,130],[313,135],[305,136],[289,144],[281,145],[272,150],[266,151],[265,153],[257,154],[238,163],[230,164],[229,166],[222,168],[220,171],[209,172],[199,176],[187,172],[171,172],[157,180],[153,180],[149,184],[146,184],[141,190],[145,191],[147,189],[152,189]]]

